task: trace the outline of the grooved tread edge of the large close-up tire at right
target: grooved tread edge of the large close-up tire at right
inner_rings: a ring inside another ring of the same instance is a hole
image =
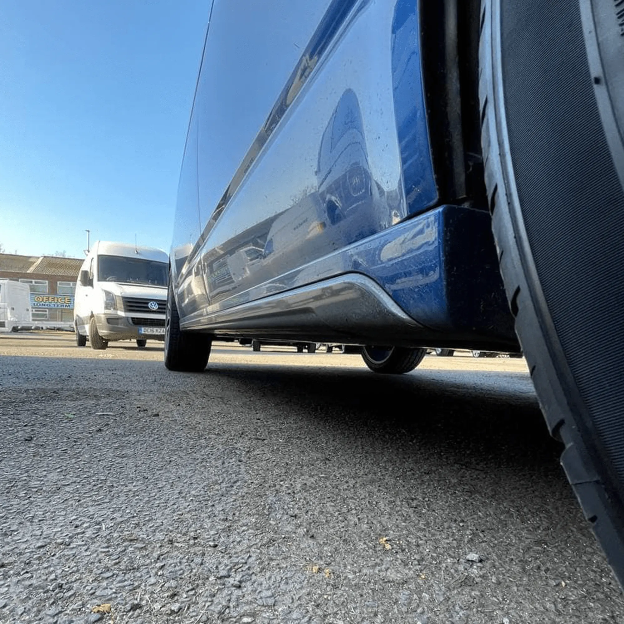
[[[515,317],[519,337],[550,434],[562,441],[560,458],[583,514],[605,551],[615,575],[624,585],[624,525],[622,510],[614,505],[618,496],[615,484],[610,487],[593,469],[600,462],[597,449],[587,430],[587,422],[570,406],[562,373],[548,348],[539,314],[531,298],[525,276],[519,241],[505,190],[504,164],[499,137],[499,119],[495,109],[494,61],[492,58],[492,2],[482,1],[482,32],[479,44],[479,99],[482,103],[482,149],[485,187],[492,214],[494,240],[499,252],[500,272],[510,310]],[[584,436],[581,432],[584,432]],[[598,469],[600,471],[600,469]],[[602,474],[607,474],[606,470]],[[618,497],[619,498],[619,497]]]

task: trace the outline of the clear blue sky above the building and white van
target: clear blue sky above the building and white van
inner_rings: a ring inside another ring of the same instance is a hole
[[[0,244],[168,251],[210,0],[0,2]]]

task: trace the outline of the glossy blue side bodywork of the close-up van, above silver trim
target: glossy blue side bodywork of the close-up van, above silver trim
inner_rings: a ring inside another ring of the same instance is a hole
[[[172,244],[182,326],[356,272],[434,334],[515,342],[489,215],[438,205],[417,6],[215,0]]]

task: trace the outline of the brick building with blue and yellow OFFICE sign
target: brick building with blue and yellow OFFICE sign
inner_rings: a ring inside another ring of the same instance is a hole
[[[0,280],[29,285],[35,326],[68,328],[74,323],[74,291],[80,265],[81,258],[0,253]]]

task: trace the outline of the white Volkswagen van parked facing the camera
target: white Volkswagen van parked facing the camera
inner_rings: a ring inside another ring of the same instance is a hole
[[[80,267],[74,298],[76,344],[165,337],[169,258],[154,247],[97,241]]]

